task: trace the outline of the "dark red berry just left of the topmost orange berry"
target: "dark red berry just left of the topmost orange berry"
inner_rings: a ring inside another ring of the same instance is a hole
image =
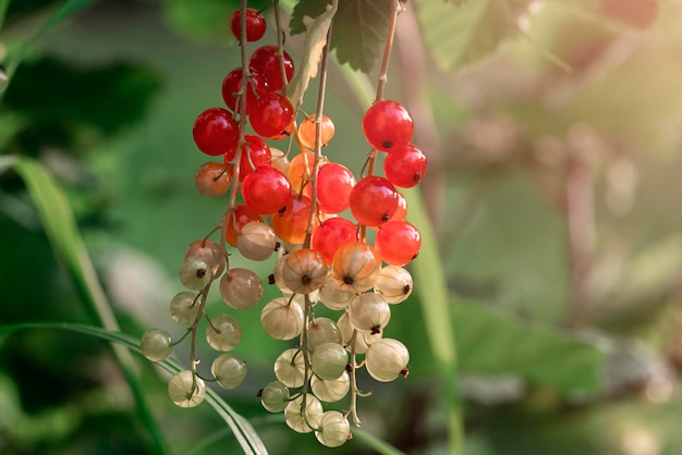
[[[285,96],[270,93],[258,99],[248,119],[256,134],[266,139],[282,139],[291,132],[294,108]]]

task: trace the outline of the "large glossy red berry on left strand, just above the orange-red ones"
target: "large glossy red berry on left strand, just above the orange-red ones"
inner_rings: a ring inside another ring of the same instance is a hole
[[[271,214],[287,206],[291,199],[291,185],[279,169],[260,165],[244,177],[242,197],[256,213]]]

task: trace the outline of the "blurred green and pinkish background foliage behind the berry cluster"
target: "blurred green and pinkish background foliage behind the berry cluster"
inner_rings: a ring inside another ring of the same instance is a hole
[[[224,206],[194,188],[204,158],[190,131],[198,112],[222,103],[222,77],[239,65],[226,20],[236,2],[70,3],[93,4],[47,32],[11,74],[0,153],[33,157],[60,183],[121,330],[179,334],[167,311],[176,267]],[[292,30],[320,4],[282,3],[294,11]],[[0,62],[60,4],[0,0]],[[429,155],[424,207],[451,295],[461,371],[450,385],[464,403],[466,453],[681,453],[682,2],[415,0],[405,9],[387,89],[407,103]],[[357,27],[382,24],[376,11]],[[337,56],[350,63],[331,70],[326,113],[337,136],[326,155],[358,171],[366,106],[348,65],[375,77],[376,64],[352,60],[349,48],[367,45],[373,56],[377,44],[343,30]],[[293,56],[302,41],[288,38]],[[11,171],[0,174],[0,324],[96,323]],[[232,260],[269,274],[271,263]],[[397,308],[388,328],[410,347],[410,379],[365,384],[375,394],[361,401],[365,429],[414,454],[449,452],[421,309],[428,296]],[[216,295],[208,309],[221,305]],[[272,380],[283,344],[263,334],[258,308],[238,316],[236,353],[249,373],[221,394],[271,453],[322,452],[261,409],[256,391]],[[176,357],[187,358],[182,346]],[[169,453],[240,451],[208,406],[175,408],[167,378],[139,368]],[[40,330],[0,339],[2,454],[151,453],[139,420],[105,343]],[[374,453],[356,440],[337,453]]]

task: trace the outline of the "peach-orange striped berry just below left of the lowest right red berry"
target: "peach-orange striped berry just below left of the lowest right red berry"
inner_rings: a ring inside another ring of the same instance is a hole
[[[363,293],[369,291],[381,270],[381,257],[365,242],[341,246],[333,255],[331,272],[344,291]]]

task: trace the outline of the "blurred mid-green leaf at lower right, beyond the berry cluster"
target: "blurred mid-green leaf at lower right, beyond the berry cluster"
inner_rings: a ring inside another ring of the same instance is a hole
[[[563,393],[604,388],[606,354],[575,336],[474,304],[455,306],[454,325],[462,371],[516,374]]]

